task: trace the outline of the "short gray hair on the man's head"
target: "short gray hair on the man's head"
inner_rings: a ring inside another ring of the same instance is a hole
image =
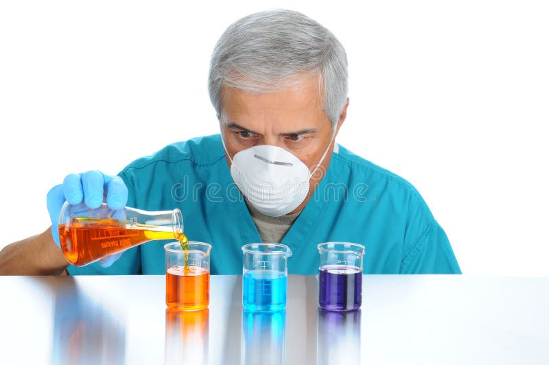
[[[347,103],[347,55],[325,27],[292,10],[268,10],[230,25],[213,49],[211,104],[221,117],[222,86],[252,93],[296,88],[303,75],[318,77],[320,102],[332,126]]]

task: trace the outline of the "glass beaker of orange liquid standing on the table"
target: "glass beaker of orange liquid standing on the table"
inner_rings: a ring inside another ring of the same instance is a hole
[[[181,250],[179,242],[165,244],[166,305],[183,311],[197,311],[210,301],[211,245],[189,242]]]

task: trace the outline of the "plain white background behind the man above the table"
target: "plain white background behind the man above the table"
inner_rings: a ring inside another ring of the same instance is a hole
[[[549,11],[528,0],[2,1],[0,248],[49,226],[68,173],[218,132],[213,46],[269,8],[343,43],[338,143],[417,187],[465,274],[549,274]]]

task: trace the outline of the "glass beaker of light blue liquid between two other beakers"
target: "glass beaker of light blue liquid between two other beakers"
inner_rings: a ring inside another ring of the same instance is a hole
[[[292,250],[283,244],[242,246],[242,305],[249,311],[279,311],[286,307],[288,268]]]

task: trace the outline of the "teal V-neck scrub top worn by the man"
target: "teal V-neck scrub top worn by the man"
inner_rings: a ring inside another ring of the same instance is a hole
[[[261,242],[226,162],[220,134],[173,143],[119,173],[128,207],[180,209],[191,241],[211,244],[211,274],[242,274],[242,246]],[[126,250],[109,268],[69,266],[69,274],[164,274],[167,241]],[[317,274],[322,242],[366,248],[365,274],[458,274],[452,246],[406,180],[339,147],[324,178],[282,242],[289,274]]]

